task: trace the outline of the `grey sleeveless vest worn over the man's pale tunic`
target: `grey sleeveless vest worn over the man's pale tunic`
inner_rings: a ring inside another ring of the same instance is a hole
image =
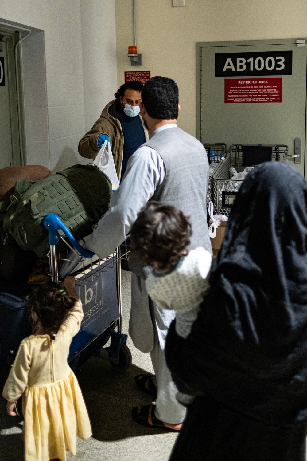
[[[190,249],[203,247],[212,254],[207,224],[208,158],[203,144],[178,127],[156,133],[143,146],[155,149],[165,165],[165,178],[152,200],[173,205],[190,217]],[[146,269],[133,255],[129,267],[141,278]]]

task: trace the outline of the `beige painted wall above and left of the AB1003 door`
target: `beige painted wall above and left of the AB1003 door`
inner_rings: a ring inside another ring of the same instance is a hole
[[[138,53],[143,66],[127,57],[133,44],[132,0],[116,0],[118,84],[124,71],[151,71],[179,86],[179,126],[196,136],[196,52],[199,41],[265,40],[307,36],[306,0],[136,0]]]

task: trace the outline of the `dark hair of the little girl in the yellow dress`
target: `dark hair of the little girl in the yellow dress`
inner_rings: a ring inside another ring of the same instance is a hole
[[[51,339],[55,339],[61,325],[68,318],[70,309],[75,305],[75,299],[55,282],[34,287],[24,301],[31,313],[37,315],[37,321],[33,323],[33,334],[42,330]]]

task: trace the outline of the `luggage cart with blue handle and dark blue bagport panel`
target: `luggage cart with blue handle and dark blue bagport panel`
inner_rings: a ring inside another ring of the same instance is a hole
[[[71,275],[75,276],[75,288],[84,311],[80,331],[70,345],[71,368],[74,370],[95,355],[110,361],[119,371],[127,370],[132,357],[126,344],[127,335],[122,333],[121,260],[127,259],[128,250],[121,254],[121,249],[117,248],[101,260],[79,244],[56,214],[48,213],[43,223],[49,234],[51,278],[54,282],[63,282],[59,268],[64,262],[71,264]],[[74,258],[57,254],[59,240],[66,243]],[[104,347],[109,339],[110,346]]]

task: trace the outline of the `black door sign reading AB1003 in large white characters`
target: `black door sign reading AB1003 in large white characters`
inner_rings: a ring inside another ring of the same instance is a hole
[[[292,51],[215,53],[215,77],[292,75]]]

